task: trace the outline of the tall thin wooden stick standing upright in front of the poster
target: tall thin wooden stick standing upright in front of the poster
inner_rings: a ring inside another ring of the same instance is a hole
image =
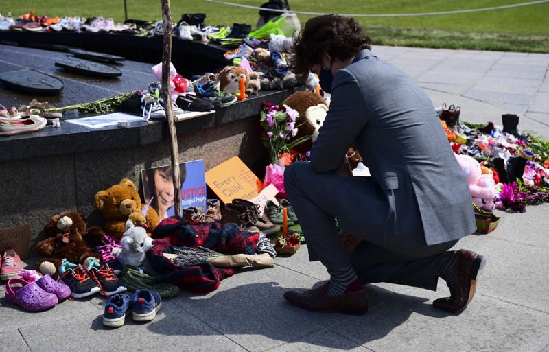
[[[179,148],[177,145],[177,131],[172,110],[172,96],[170,95],[170,67],[172,60],[172,15],[170,14],[170,0],[161,0],[162,2],[162,24],[164,27],[163,52],[162,52],[162,99],[166,111],[167,127],[170,131],[172,150],[172,178],[174,182],[174,215],[181,218],[181,183],[179,173]]]

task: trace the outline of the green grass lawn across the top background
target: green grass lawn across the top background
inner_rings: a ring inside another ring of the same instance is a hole
[[[261,5],[266,0],[229,0]],[[528,0],[289,0],[293,10],[353,14],[417,13],[464,10],[507,5]],[[172,16],[205,12],[210,25],[257,22],[257,11],[208,3],[202,0],[172,0]],[[128,17],[161,19],[159,0],[127,0]],[[36,10],[49,16],[112,16],[124,20],[123,0],[1,0],[0,13],[21,14]],[[447,47],[549,53],[549,3],[522,8],[442,16],[359,18],[377,45]],[[309,16],[300,15],[304,24]]]

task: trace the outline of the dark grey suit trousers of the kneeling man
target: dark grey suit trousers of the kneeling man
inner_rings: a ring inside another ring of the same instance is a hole
[[[388,282],[436,290],[439,258],[457,240],[428,246],[415,200],[395,204],[395,193],[384,191],[371,177],[316,172],[311,163],[285,169],[284,187],[299,218],[310,261],[330,269],[355,269],[362,283]],[[399,199],[405,199],[397,197]],[[406,211],[408,228],[397,226],[396,207]],[[340,242],[336,219],[363,242],[349,253]]]

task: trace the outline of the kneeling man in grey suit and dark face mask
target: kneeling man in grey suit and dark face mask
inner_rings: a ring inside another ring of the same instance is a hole
[[[310,19],[294,50],[292,71],[318,73],[331,104],[311,161],[286,167],[284,185],[309,259],[320,260],[330,280],[284,297],[307,309],[360,313],[368,309],[366,283],[436,290],[441,277],[451,296],[433,305],[465,309],[485,259],[449,251],[476,224],[465,175],[432,102],[375,56],[354,19]],[[349,174],[351,145],[371,177]]]

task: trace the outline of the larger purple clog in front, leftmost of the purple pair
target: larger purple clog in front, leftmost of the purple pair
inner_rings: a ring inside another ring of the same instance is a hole
[[[5,299],[30,312],[40,312],[58,303],[57,296],[45,292],[35,282],[12,278],[5,285]]]

